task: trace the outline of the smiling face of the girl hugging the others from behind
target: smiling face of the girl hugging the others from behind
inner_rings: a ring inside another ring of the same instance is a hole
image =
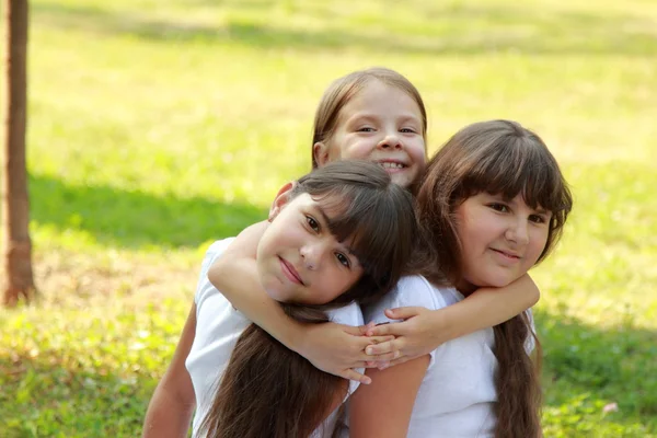
[[[379,163],[392,182],[408,187],[426,165],[423,117],[404,91],[371,80],[339,111],[333,136],[313,146],[319,165],[361,159]]]

